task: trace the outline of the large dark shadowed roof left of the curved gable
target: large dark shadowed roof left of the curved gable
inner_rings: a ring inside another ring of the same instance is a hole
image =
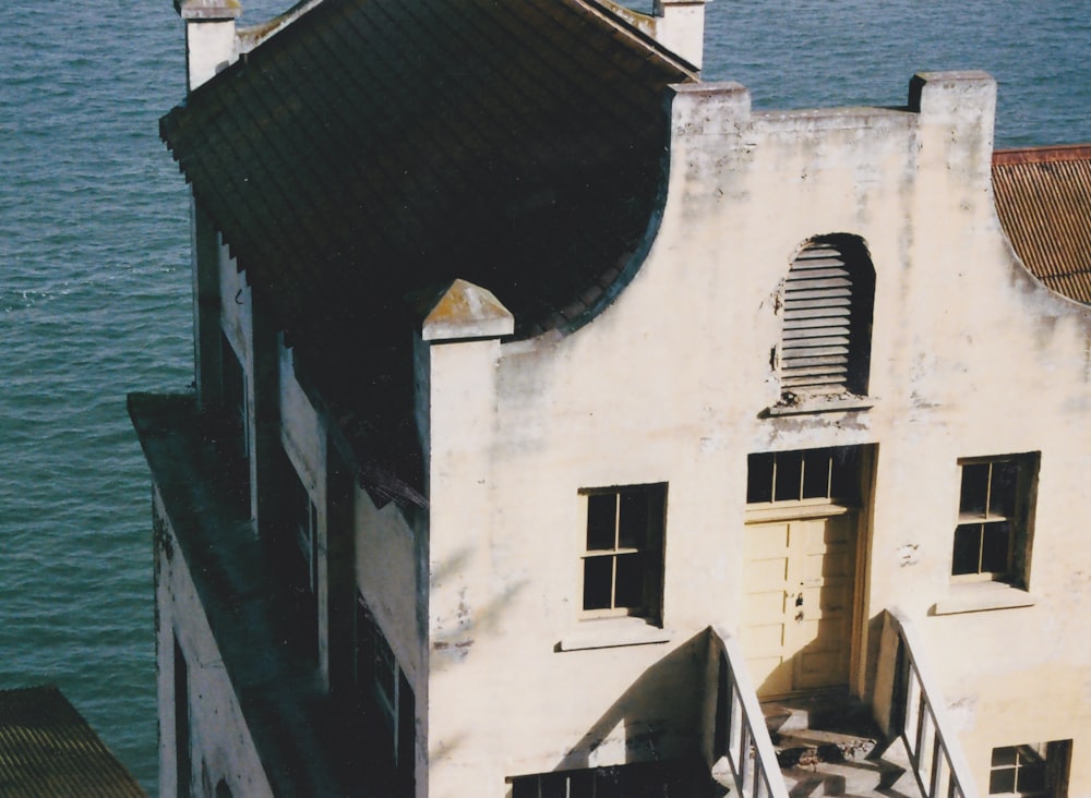
[[[695,80],[595,0],[325,0],[160,133],[397,494],[420,484],[410,418],[388,412],[412,404],[420,303],[463,278],[517,336],[594,316],[652,223],[666,87]]]

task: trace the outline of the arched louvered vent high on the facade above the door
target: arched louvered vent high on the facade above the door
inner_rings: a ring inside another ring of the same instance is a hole
[[[867,392],[875,271],[863,241],[808,242],[784,281],[780,387],[786,395]]]

